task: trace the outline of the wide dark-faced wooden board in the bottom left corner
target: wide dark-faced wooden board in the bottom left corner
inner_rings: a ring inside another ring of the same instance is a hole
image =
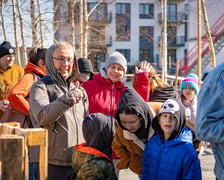
[[[24,179],[24,137],[0,136],[2,180]]]

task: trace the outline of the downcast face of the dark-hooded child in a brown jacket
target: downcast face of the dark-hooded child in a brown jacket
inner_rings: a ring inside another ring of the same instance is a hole
[[[135,114],[120,113],[119,117],[122,126],[132,133],[136,132],[141,127],[140,119]]]

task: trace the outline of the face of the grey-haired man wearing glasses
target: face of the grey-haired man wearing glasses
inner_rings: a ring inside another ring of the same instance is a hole
[[[72,49],[56,49],[52,55],[55,68],[67,80],[73,70],[74,52]]]

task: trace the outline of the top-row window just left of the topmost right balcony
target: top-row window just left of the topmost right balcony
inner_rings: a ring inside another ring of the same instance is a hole
[[[140,3],[139,4],[139,18],[154,18],[154,4],[146,4],[146,3]]]

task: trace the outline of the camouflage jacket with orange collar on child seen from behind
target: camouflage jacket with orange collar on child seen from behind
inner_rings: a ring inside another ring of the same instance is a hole
[[[105,179],[116,180],[111,159],[86,143],[76,145],[72,155],[72,168],[76,180]]]

